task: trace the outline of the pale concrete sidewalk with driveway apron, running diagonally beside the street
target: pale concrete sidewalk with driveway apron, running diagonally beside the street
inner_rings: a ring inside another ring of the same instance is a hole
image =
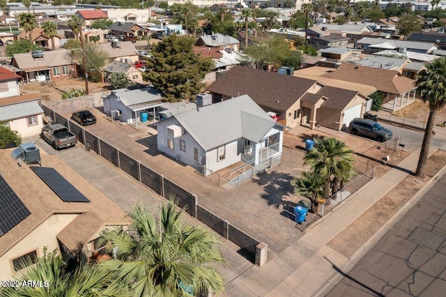
[[[431,151],[436,149],[433,147]],[[226,286],[227,296],[323,296],[338,273],[334,266],[342,270],[352,266],[355,260],[339,254],[328,243],[403,181],[408,172],[415,171],[419,155],[420,149],[397,167],[369,182],[268,264],[262,268],[252,267],[233,280]]]

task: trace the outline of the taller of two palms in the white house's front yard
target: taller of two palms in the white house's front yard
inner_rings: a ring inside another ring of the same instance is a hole
[[[314,139],[314,148],[304,157],[304,164],[325,179],[325,199],[330,198],[333,176],[345,177],[353,172],[353,151],[334,137]],[[329,202],[329,201],[328,201]]]

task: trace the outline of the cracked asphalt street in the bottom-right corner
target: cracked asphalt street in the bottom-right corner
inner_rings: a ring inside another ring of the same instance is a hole
[[[446,175],[327,296],[445,296],[445,192]]]

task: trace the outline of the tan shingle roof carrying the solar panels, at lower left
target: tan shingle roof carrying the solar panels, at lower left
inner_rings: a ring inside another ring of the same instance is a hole
[[[99,231],[99,227],[128,224],[128,218],[125,218],[125,212],[121,208],[59,158],[40,154],[42,164],[56,169],[90,200],[89,203],[62,201],[29,165],[22,162],[22,167],[17,170],[17,162],[10,158],[11,151],[0,150],[0,174],[29,209],[31,215],[1,236],[0,257],[54,213],[79,214],[77,219],[70,222],[66,229],[57,235],[63,245],[73,253],[90,241]]]

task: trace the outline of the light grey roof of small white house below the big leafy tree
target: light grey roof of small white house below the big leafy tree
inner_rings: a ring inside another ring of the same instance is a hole
[[[159,105],[158,103],[162,101],[161,93],[155,88],[135,90],[118,89],[112,91],[112,95],[110,96],[118,97],[126,107],[133,110],[139,109],[140,107],[148,107],[153,103],[155,103],[155,105]]]

